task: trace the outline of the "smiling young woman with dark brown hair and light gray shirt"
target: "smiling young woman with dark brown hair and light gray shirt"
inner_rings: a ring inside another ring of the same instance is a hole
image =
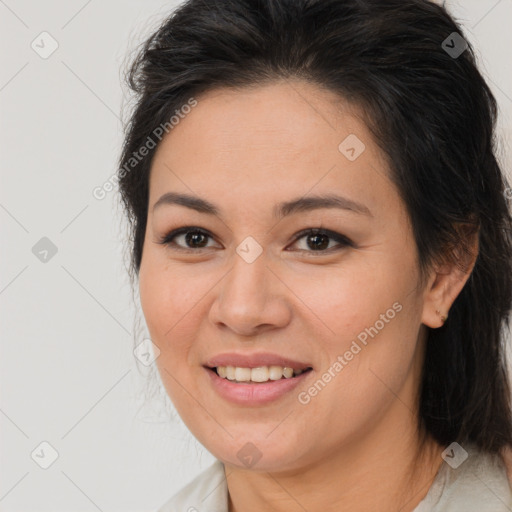
[[[426,0],[189,0],[119,183],[162,382],[218,460],[161,512],[502,511],[496,102]]]

